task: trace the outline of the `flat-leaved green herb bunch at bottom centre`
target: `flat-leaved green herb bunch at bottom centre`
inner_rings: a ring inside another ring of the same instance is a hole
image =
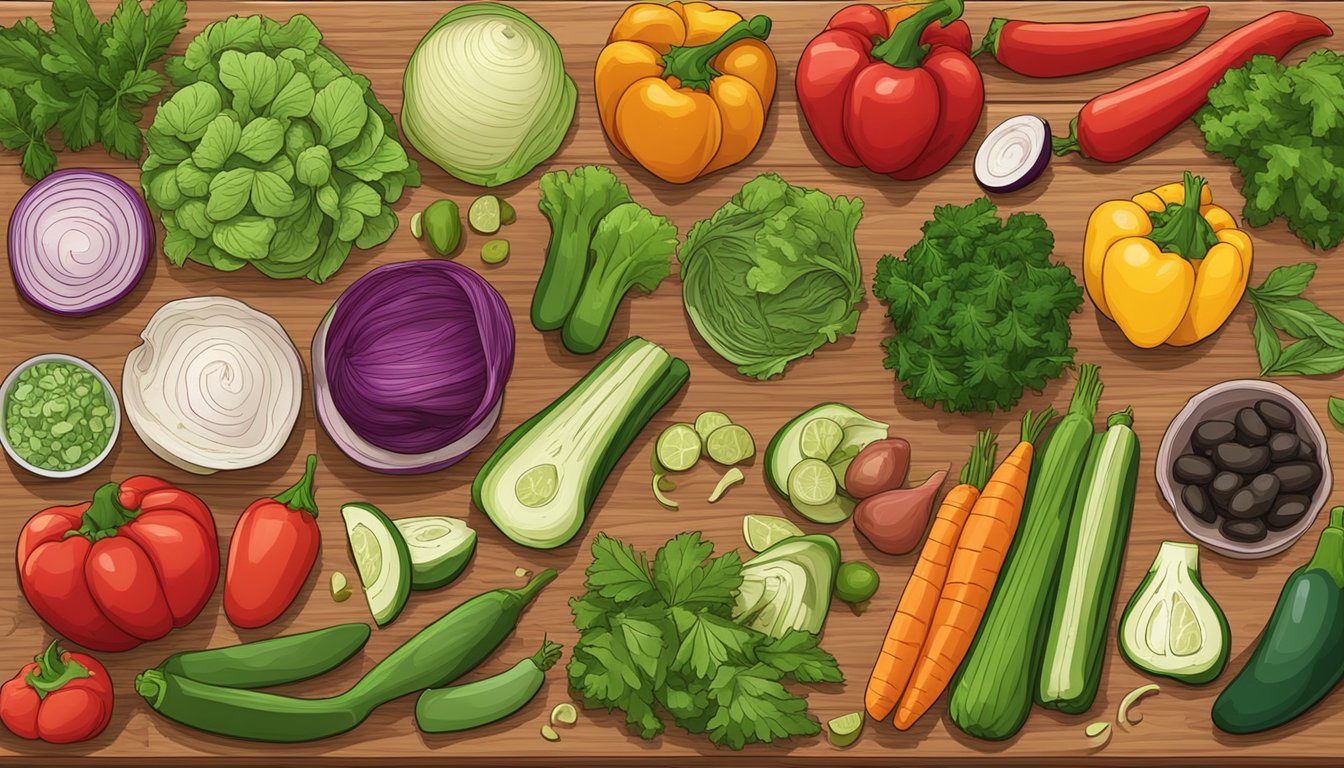
[[[570,686],[589,707],[625,713],[653,738],[664,718],[716,745],[814,736],[808,702],[784,682],[841,682],[817,636],[794,629],[771,639],[732,620],[742,585],[737,551],[710,557],[698,533],[679,534],[652,566],[606,534],[593,541],[587,592],[570,600],[579,642]]]

